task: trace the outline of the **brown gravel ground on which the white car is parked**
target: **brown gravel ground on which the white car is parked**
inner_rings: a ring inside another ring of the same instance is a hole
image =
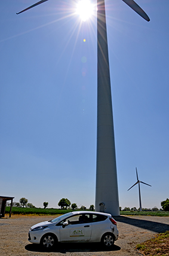
[[[134,256],[141,255],[134,248],[152,238],[156,233],[169,230],[169,217],[152,216],[120,216],[118,223],[119,239],[112,251],[103,251],[98,243],[73,243],[57,246],[55,251],[44,252],[39,245],[27,240],[29,228],[41,221],[49,220],[49,216],[23,217],[12,215],[11,218],[0,218],[0,255],[21,256]]]

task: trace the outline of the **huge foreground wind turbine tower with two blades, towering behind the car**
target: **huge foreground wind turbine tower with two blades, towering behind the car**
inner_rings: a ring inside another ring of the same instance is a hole
[[[48,0],[36,2],[36,4],[17,14],[46,1]],[[148,15],[136,2],[133,0],[122,1],[149,22]],[[97,163],[95,208],[96,211],[108,212],[113,216],[119,215],[105,0],[97,0]]]

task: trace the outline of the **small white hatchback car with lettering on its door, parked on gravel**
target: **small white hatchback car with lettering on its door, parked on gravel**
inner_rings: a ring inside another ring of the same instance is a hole
[[[117,239],[117,224],[112,215],[80,211],[33,225],[28,240],[51,249],[57,242],[101,242],[106,248],[111,248]]]

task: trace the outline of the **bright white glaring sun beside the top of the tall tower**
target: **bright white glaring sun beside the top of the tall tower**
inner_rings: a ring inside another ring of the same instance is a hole
[[[76,13],[85,22],[94,13],[94,5],[91,4],[90,0],[81,0],[77,4]]]

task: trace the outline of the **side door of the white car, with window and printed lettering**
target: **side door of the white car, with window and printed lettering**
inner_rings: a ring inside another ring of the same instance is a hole
[[[64,220],[65,221],[65,220]],[[87,242],[91,238],[89,214],[77,214],[67,218],[68,225],[60,225],[60,242]]]

